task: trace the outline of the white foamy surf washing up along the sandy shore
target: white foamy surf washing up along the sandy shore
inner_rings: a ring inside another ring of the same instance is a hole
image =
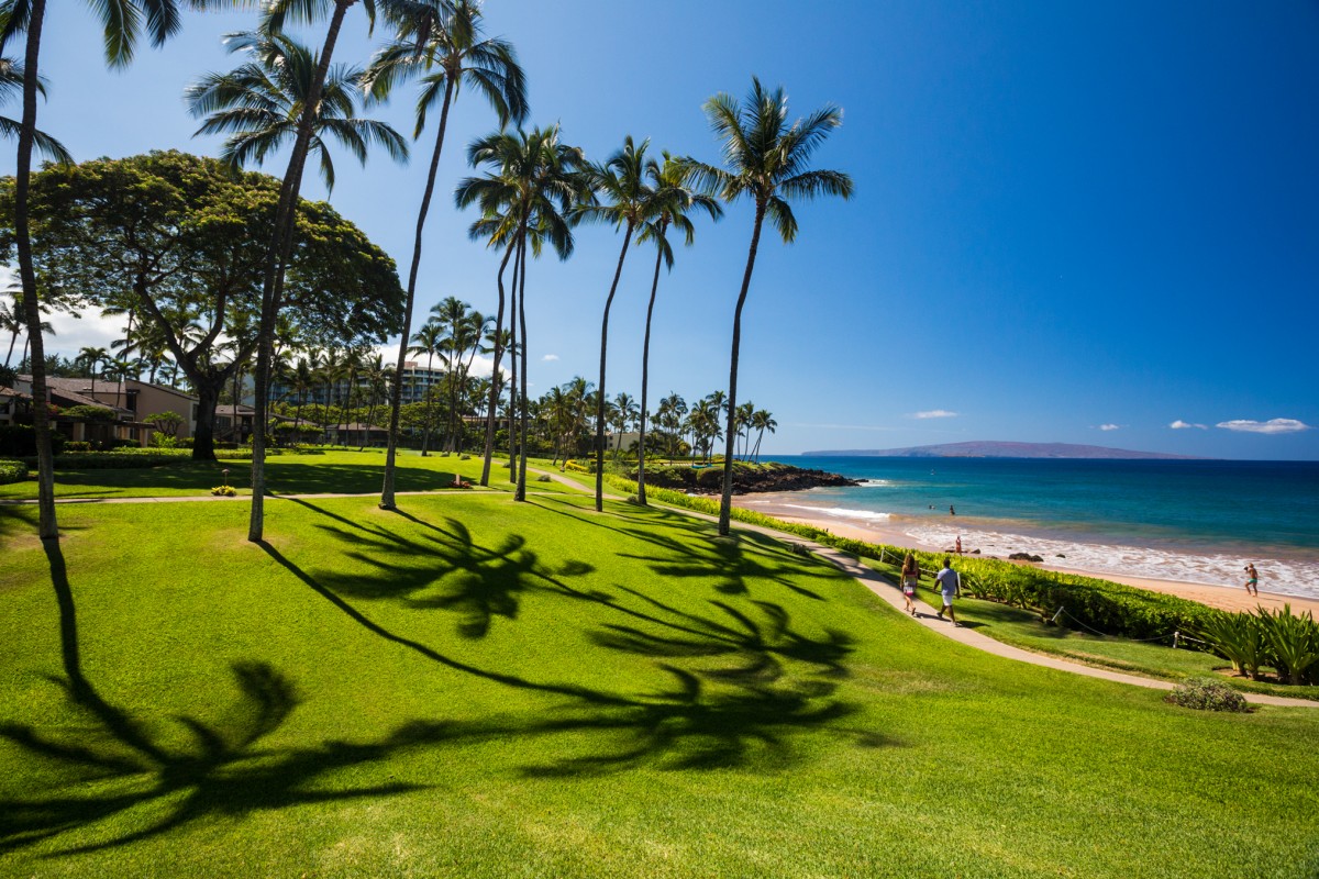
[[[1242,559],[1224,553],[1198,555],[1120,543],[1084,543],[1000,531],[959,531],[947,526],[913,526],[905,532],[919,544],[939,551],[951,547],[960,536],[966,552],[980,550],[983,555],[998,557],[1008,557],[1013,552],[1029,552],[1042,556],[1047,565],[1095,575],[1126,575],[1217,586],[1245,582],[1241,568],[1246,561],[1254,561],[1254,567],[1260,571],[1262,590],[1319,598],[1319,561],[1308,559],[1270,560]]]

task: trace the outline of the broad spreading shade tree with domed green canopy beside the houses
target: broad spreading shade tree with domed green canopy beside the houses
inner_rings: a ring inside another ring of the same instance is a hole
[[[199,398],[195,459],[214,457],[219,393],[255,349],[255,335],[240,328],[260,314],[262,233],[277,199],[274,178],[178,152],[33,177],[38,279],[91,304],[137,308],[161,331]],[[0,187],[0,217],[11,207],[12,184]],[[12,237],[0,224],[0,241]],[[309,344],[383,341],[402,314],[393,261],[323,202],[299,204],[285,295],[295,306],[286,326]]]

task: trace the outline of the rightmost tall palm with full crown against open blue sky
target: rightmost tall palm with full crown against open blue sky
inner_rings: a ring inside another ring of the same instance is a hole
[[[694,181],[719,191],[724,202],[748,196],[756,208],[747,269],[743,273],[737,308],[733,311],[733,339],[728,368],[728,430],[724,436],[724,490],[719,503],[719,534],[728,534],[733,493],[733,415],[737,410],[737,354],[741,345],[741,312],[756,268],[761,225],[768,216],[785,244],[797,237],[797,219],[790,199],[818,195],[852,195],[852,178],[843,171],[811,170],[811,154],[843,124],[843,111],[832,104],[787,124],[787,96],[783,90],[765,91],[752,78],[744,104],[719,94],[706,101],[706,116],[723,141],[727,169],[692,162]]]

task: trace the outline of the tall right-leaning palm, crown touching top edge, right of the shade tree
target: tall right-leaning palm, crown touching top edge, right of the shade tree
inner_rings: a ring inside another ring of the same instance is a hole
[[[426,113],[439,105],[439,125],[435,148],[430,157],[426,187],[417,211],[417,233],[413,240],[413,258],[408,270],[408,297],[404,306],[404,331],[400,341],[394,391],[390,399],[389,441],[385,452],[385,476],[380,492],[380,506],[394,506],[394,456],[398,435],[398,414],[402,406],[404,348],[412,331],[413,306],[417,293],[417,273],[421,268],[422,229],[435,192],[439,156],[445,148],[448,128],[448,108],[466,83],[485,96],[495,108],[500,125],[526,119],[526,76],[517,63],[513,46],[504,40],[483,38],[481,8],[476,0],[394,0],[385,9],[385,20],[394,28],[390,40],[371,62],[367,87],[372,98],[384,99],[398,83],[421,76],[421,95],[417,99],[417,128],[413,137],[421,137],[426,127]],[[503,314],[501,314],[503,319]],[[493,409],[493,407],[492,407]],[[485,469],[488,470],[488,460]],[[488,472],[481,485],[488,484]]]

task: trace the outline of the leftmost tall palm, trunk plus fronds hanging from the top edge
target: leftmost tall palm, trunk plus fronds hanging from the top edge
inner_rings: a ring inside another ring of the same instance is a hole
[[[162,45],[179,28],[175,0],[119,0],[92,3],[106,34],[106,61],[111,67],[124,67],[133,58],[138,28],[145,26],[153,46]],[[28,199],[32,190],[32,150],[37,146],[37,94],[41,75],[41,30],[46,18],[46,0],[25,0],[7,7],[0,20],[0,46],[18,33],[26,34],[22,61],[22,120],[18,123],[18,156],[15,166],[15,246],[18,252],[18,279],[22,283],[24,323],[32,347],[32,426],[37,441],[37,534],[42,540],[58,540],[55,519],[55,469],[50,444],[50,412],[46,403],[46,348],[41,337],[41,303],[37,275],[32,264],[32,231]]]

